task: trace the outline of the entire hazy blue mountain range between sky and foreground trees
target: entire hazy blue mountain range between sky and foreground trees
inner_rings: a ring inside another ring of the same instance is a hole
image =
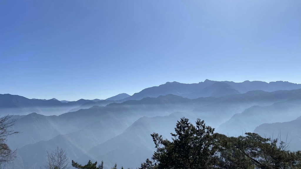
[[[285,133],[294,128],[289,135],[295,149],[301,143],[294,139],[300,138],[300,103],[301,84],[283,81],[167,82],[132,96],[123,93],[105,100],[71,102],[0,95],[1,114],[15,114],[12,129],[21,132],[7,141],[18,149],[16,160],[8,166],[14,169],[43,166],[46,151],[57,146],[82,164],[91,159],[103,160],[105,168],[115,163],[136,168],[154,151],[150,134],[170,139],[183,116],[205,120],[216,132],[231,136],[244,131]]]

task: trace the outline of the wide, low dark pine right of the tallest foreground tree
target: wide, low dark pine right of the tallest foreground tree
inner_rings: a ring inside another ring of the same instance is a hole
[[[280,137],[263,138],[255,133],[246,136],[219,135],[216,168],[290,169],[300,167],[300,152],[290,152]]]

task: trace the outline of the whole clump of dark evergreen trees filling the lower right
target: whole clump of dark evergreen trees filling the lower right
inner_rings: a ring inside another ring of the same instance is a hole
[[[215,133],[204,121],[196,126],[181,118],[172,141],[156,133],[156,151],[140,169],[297,169],[301,168],[301,152],[290,152],[287,144],[262,138],[255,133],[227,137]],[[280,140],[280,142],[279,142]]]

